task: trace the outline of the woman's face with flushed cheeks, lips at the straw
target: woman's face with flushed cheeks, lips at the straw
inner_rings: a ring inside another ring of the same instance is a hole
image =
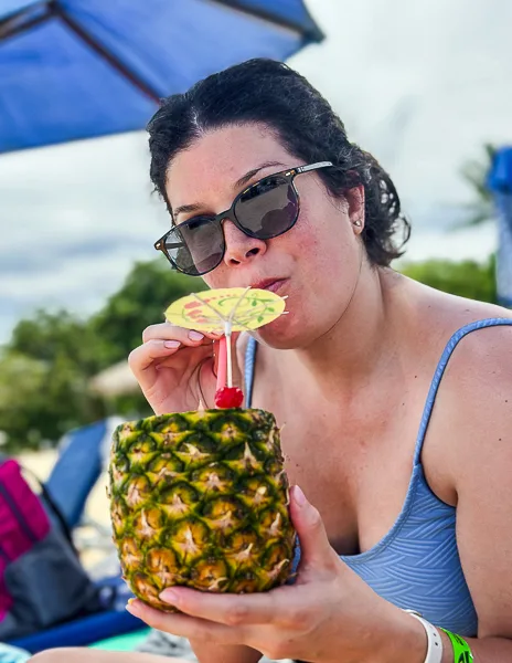
[[[235,186],[262,165],[246,183]],[[175,222],[217,214],[250,183],[300,165],[265,126],[235,125],[210,131],[179,152],[168,169],[166,190],[172,209],[198,206],[194,212],[180,212]],[[224,260],[204,275],[214,288],[263,282],[277,294],[288,295],[289,314],[257,332],[260,340],[281,349],[307,347],[337,324],[358,282],[363,251],[362,225],[353,223],[364,223],[360,189],[353,189],[348,200],[334,200],[316,171],[299,175],[295,185],[300,214],[294,228],[263,241],[224,221]]]

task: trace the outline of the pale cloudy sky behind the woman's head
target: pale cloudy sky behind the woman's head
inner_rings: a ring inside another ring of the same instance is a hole
[[[510,0],[309,0],[327,34],[289,64],[392,175],[408,256],[483,259],[494,228],[446,233],[484,143],[512,144]],[[1,98],[0,98],[1,103]],[[84,316],[169,227],[143,133],[0,156],[0,343],[38,307]]]

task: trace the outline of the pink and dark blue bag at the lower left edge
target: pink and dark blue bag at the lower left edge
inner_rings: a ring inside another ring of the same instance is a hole
[[[67,524],[46,491],[32,491],[0,454],[0,641],[23,638],[104,609]],[[34,477],[36,478],[36,477]]]

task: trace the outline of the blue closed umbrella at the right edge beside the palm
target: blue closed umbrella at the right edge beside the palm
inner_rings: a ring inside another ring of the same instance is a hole
[[[498,302],[512,308],[512,147],[502,147],[488,177],[498,217]]]

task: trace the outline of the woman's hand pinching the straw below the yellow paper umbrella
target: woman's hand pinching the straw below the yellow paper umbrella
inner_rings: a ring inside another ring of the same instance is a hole
[[[200,398],[213,407],[218,338],[169,323],[143,330],[128,362],[156,414],[196,410]]]

